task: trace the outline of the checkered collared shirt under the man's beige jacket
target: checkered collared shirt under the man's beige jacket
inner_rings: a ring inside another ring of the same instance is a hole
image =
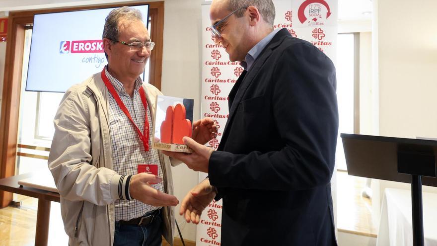
[[[129,110],[135,124],[144,132],[144,121],[147,115],[149,125],[152,125],[150,110],[144,109],[139,89],[143,84],[141,78],[135,81],[134,94],[131,97],[123,87],[123,83],[112,77],[108,70],[105,71],[109,81],[114,86],[121,100]],[[149,151],[144,151],[143,142],[140,140],[135,127],[126,114],[120,109],[114,97],[109,93],[109,129],[112,143],[112,162],[114,171],[120,175],[134,175],[138,173],[137,164],[158,164],[158,176],[162,176],[162,168],[158,151],[151,148],[153,137],[152,127],[149,127]],[[153,188],[164,192],[162,182],[152,184]],[[136,199],[115,201],[115,220],[130,220],[138,218],[152,210],[159,209],[146,205]]]

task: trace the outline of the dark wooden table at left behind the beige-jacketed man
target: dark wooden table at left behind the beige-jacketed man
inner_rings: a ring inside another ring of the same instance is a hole
[[[19,180],[34,177],[33,173],[25,173],[0,179],[0,190],[38,198],[36,217],[35,245],[47,245],[49,238],[50,202],[60,202],[57,192],[20,186]]]

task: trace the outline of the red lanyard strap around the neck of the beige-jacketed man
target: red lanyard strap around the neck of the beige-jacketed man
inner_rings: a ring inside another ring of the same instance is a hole
[[[111,84],[111,82],[109,81],[108,77],[106,77],[105,71],[106,71],[106,66],[103,68],[102,73],[101,73],[101,77],[102,77],[103,82],[105,83],[106,87],[108,88],[109,93],[111,93],[112,97],[114,97],[114,99],[117,102],[120,109],[126,114],[126,116],[128,116],[129,120],[134,125],[135,129],[137,130],[138,136],[140,137],[140,140],[143,141],[144,150],[148,151],[148,137],[149,137],[148,127],[149,126],[148,126],[148,119],[147,119],[146,93],[144,92],[143,86],[140,87],[140,97],[141,97],[141,101],[143,102],[144,110],[146,112],[146,116],[144,117],[145,118],[145,120],[144,120],[144,134],[141,133],[141,130],[135,124],[134,120],[131,117],[131,114],[129,113],[128,108],[125,106],[123,101],[120,99],[120,96],[118,95],[117,91],[115,91],[115,88]]]

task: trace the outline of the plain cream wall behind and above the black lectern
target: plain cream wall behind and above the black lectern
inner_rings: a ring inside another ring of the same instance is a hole
[[[377,0],[379,134],[437,137],[437,1]],[[389,13],[389,14],[388,14]],[[393,13],[400,16],[393,19]],[[385,188],[410,184],[380,181]],[[437,193],[435,187],[424,192]]]

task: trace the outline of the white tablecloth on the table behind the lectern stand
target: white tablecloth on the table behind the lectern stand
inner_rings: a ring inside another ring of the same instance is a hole
[[[437,194],[423,192],[425,246],[437,246]],[[387,188],[376,246],[412,246],[411,191]]]

